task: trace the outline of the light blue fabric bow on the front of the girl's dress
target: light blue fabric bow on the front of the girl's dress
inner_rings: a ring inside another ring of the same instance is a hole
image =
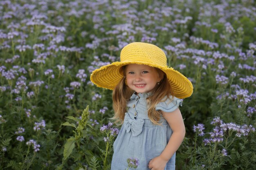
[[[128,113],[124,116],[124,127],[126,132],[132,131],[132,136],[138,136],[143,129],[144,119],[132,119]]]

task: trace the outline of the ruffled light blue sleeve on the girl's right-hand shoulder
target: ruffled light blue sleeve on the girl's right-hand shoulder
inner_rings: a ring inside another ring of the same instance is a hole
[[[162,102],[155,106],[155,110],[163,110],[164,112],[173,112],[179,106],[182,106],[182,99],[175,96],[165,97]]]

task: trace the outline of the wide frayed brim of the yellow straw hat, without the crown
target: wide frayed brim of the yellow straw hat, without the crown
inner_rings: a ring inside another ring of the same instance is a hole
[[[108,64],[94,70],[90,76],[91,82],[96,84],[98,87],[114,90],[115,86],[124,76],[120,74],[120,68],[128,64],[145,64],[162,70],[166,73],[166,77],[171,84],[175,97],[184,99],[191,96],[193,93],[192,83],[180,72],[167,66],[162,67],[148,62],[113,62],[112,64]]]

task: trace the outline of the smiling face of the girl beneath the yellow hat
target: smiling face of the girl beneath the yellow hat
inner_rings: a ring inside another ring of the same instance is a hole
[[[154,67],[141,64],[129,64],[126,66],[127,85],[137,93],[152,91],[160,80]]]

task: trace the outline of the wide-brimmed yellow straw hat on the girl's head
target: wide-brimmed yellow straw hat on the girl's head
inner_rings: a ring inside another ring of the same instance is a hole
[[[120,62],[113,62],[94,70],[91,81],[98,87],[113,90],[124,75],[119,70],[128,64],[145,64],[164,71],[175,97],[184,99],[193,93],[192,83],[180,72],[169,68],[166,55],[159,47],[144,42],[132,42],[126,45],[120,54]]]

